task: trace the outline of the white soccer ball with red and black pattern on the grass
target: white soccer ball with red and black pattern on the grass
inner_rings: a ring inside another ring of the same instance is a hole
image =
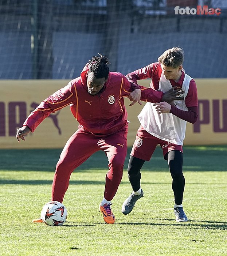
[[[58,201],[48,202],[43,206],[41,219],[49,226],[62,226],[67,219],[66,207]]]

